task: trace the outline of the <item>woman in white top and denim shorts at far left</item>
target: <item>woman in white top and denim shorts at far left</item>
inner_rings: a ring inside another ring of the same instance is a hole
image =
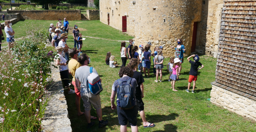
[[[15,32],[13,31],[13,29],[11,28],[11,22],[10,20],[5,20],[4,21],[4,31],[6,33],[6,41],[8,43],[8,49],[10,50],[10,48],[13,48],[13,44],[12,42],[14,42],[14,34]]]

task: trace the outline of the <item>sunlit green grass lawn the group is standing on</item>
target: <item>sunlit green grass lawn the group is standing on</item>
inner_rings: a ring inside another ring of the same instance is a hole
[[[33,23],[32,23],[33,22]],[[106,24],[96,21],[69,21],[70,25],[77,24],[83,36],[101,37],[111,40],[128,40],[133,37],[124,35],[121,31],[111,28]],[[28,26],[32,23],[33,26]],[[33,28],[42,24],[48,29],[50,23],[57,23],[49,20],[21,20],[13,24],[16,32],[16,38],[26,36],[25,29]],[[27,28],[26,28],[27,27]],[[72,28],[72,27],[71,27]],[[71,30],[70,30],[71,33]],[[67,44],[72,48],[74,46],[73,37],[68,37]],[[97,132],[118,132],[120,125],[118,123],[117,111],[111,109],[110,95],[113,82],[120,78],[118,76],[119,68],[110,68],[105,63],[106,53],[110,51],[116,57],[119,66],[121,65],[120,57],[121,42],[108,41],[86,37],[83,41],[82,51],[91,58],[89,66],[94,67],[102,78],[103,91],[101,92],[101,107],[104,120],[109,124],[104,128],[98,128],[98,122],[91,128],[87,129],[87,122],[84,116],[77,116],[75,107],[75,95],[65,93],[67,100],[68,112],[73,132],[80,131],[97,131]],[[153,58],[152,58],[153,59]],[[153,61],[151,59],[151,62]],[[207,99],[210,98],[211,84],[215,80],[215,58],[207,55],[200,55],[200,62],[204,68],[199,71],[198,81],[196,81],[195,93],[187,93],[187,80],[190,70],[190,64],[184,58],[182,64],[182,75],[180,81],[176,82],[177,92],[172,91],[171,84],[168,82],[169,72],[166,69],[169,58],[164,59],[163,82],[156,83],[153,75],[153,64],[150,68],[151,77],[144,77],[144,95],[146,119],[150,123],[155,123],[153,128],[143,128],[142,120],[137,115],[137,125],[140,132],[148,131],[170,131],[170,132],[255,132],[255,121],[241,117],[222,107],[213,105]],[[127,62],[128,63],[128,62]],[[72,77],[70,76],[70,79]],[[192,86],[191,86],[192,88]],[[74,88],[72,88],[74,89]],[[84,111],[81,100],[81,111]],[[92,108],[91,115],[96,116],[96,111]],[[131,131],[128,125],[128,131]]]

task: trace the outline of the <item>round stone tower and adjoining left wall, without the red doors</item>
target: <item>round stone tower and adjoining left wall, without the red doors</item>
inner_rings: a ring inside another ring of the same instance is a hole
[[[185,56],[190,55],[193,23],[201,21],[202,0],[166,1],[100,1],[100,19],[110,26],[122,30],[122,16],[127,16],[127,34],[135,37],[136,45],[151,42],[163,46],[165,57],[174,56],[177,39],[182,38],[186,48]]]

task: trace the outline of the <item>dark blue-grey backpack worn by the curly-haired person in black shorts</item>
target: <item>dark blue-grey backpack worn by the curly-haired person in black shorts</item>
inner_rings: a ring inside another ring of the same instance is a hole
[[[128,80],[121,81],[120,79],[117,79],[119,86],[117,88],[117,105],[121,109],[131,109],[135,105],[135,96],[133,96],[132,85],[130,84],[132,81],[132,77],[130,77]],[[123,82],[126,82],[123,84]]]

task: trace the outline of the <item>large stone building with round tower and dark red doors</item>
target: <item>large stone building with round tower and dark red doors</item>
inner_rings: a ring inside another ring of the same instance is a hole
[[[217,56],[223,0],[100,0],[100,20],[135,37],[136,45],[152,42],[173,56],[182,38],[185,55],[191,52]]]

